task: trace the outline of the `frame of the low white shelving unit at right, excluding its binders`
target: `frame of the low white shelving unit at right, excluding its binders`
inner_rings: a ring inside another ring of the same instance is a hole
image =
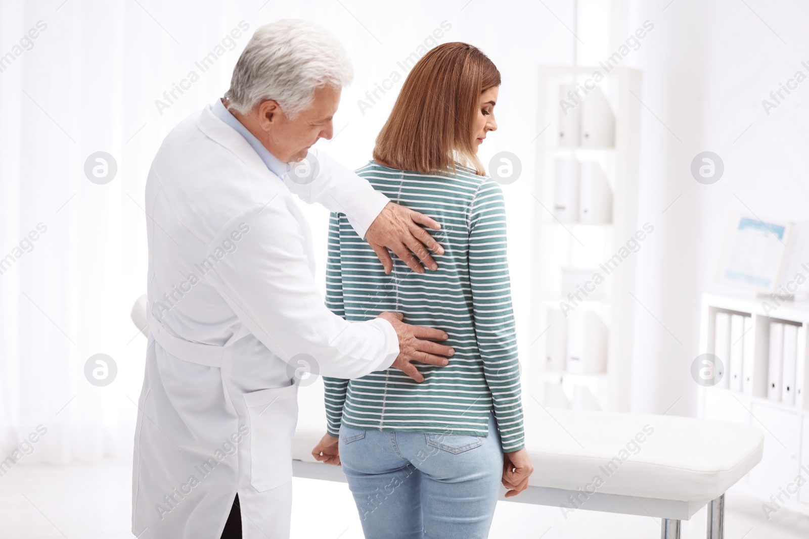
[[[739,485],[773,508],[789,507],[809,515],[809,369],[807,331],[809,304],[787,303],[777,310],[765,309],[765,300],[705,295],[702,298],[700,353],[714,354],[716,314],[726,312],[752,317],[752,391],[730,390],[717,384],[700,387],[698,411],[704,419],[749,424],[764,432],[764,456]],[[772,305],[772,301],[769,301]],[[769,312],[768,312],[769,311]],[[769,324],[787,322],[798,331],[798,362],[795,403],[787,405],[767,398],[769,373]],[[729,359],[719,358],[725,364]],[[744,374],[747,376],[747,374]],[[804,469],[802,469],[802,466]],[[803,478],[797,481],[798,476]],[[805,484],[798,486],[798,482]],[[771,496],[781,497],[777,505]]]

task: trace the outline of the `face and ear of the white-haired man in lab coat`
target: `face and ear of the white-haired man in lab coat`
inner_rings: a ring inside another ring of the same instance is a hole
[[[257,120],[267,134],[261,139],[283,162],[300,161],[318,139],[334,135],[332,118],[340,104],[341,88],[322,86],[315,91],[309,107],[293,119],[275,101],[258,105]]]

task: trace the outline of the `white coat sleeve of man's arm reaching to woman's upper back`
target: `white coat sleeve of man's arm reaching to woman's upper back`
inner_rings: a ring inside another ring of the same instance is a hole
[[[330,212],[344,213],[360,238],[390,200],[349,169],[319,149],[310,149],[301,175],[286,173],[282,180],[307,204],[318,203]]]

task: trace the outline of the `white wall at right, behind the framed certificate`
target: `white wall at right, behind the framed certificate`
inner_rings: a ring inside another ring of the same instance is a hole
[[[655,226],[638,254],[637,298],[645,309],[637,310],[632,398],[633,411],[662,413],[676,403],[671,414],[694,415],[689,367],[698,353],[701,293],[745,294],[714,282],[728,218],[807,219],[809,82],[769,116],[761,100],[796,70],[809,75],[800,65],[809,59],[802,53],[809,5],[669,2],[625,4],[626,31],[654,23],[627,59],[644,71],[639,215]],[[689,171],[704,150],[725,164],[713,185]]]

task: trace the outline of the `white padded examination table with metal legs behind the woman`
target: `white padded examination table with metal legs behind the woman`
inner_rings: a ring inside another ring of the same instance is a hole
[[[680,520],[706,503],[706,537],[722,539],[724,493],[758,464],[764,448],[760,430],[736,423],[536,407],[526,414],[534,474],[527,491],[508,501],[560,507],[564,515],[584,509],[653,516],[663,519],[662,539],[679,539]],[[295,432],[294,474],[345,481],[340,468],[311,456],[323,434]]]

